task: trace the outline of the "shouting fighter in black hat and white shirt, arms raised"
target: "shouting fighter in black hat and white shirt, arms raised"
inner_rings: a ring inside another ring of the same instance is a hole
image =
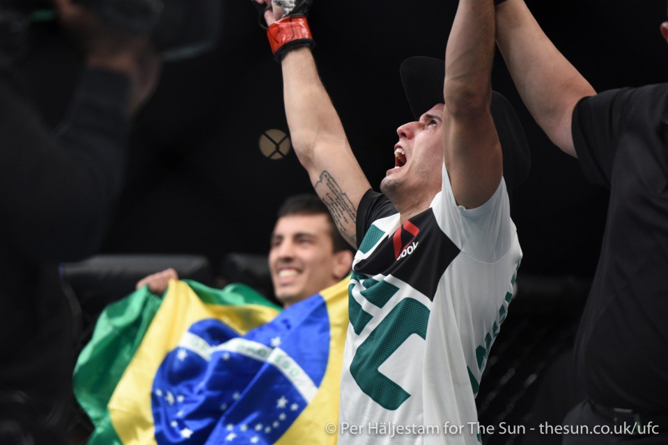
[[[467,423],[477,420],[474,395],[522,257],[502,147],[524,140],[512,108],[490,86],[494,4],[460,1],[446,64],[403,63],[417,120],[397,129],[395,165],[380,194],[318,77],[304,17],[310,2],[268,3],[267,35],[283,69],[295,151],[358,249],[339,443],[477,443]],[[446,423],[457,430],[444,431]]]

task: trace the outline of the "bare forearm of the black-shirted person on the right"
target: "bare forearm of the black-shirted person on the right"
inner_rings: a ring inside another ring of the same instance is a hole
[[[496,17],[497,44],[522,100],[550,140],[576,156],[570,133],[573,108],[596,91],[554,47],[523,0],[504,1]]]

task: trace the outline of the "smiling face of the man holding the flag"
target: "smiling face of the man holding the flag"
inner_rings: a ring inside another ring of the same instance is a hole
[[[348,264],[348,269],[350,264]],[[272,234],[269,268],[274,294],[285,307],[304,300],[341,279],[334,253],[332,225],[326,215],[287,215]]]

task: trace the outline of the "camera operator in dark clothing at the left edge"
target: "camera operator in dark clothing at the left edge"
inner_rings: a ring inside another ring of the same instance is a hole
[[[27,98],[11,54],[0,53],[1,444],[65,443],[75,339],[58,264],[92,254],[102,241],[132,115],[160,73],[147,36],[112,29],[72,0],[54,5],[85,60],[55,135]]]

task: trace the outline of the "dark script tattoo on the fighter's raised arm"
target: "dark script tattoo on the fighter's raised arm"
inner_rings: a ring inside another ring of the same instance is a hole
[[[332,213],[332,218],[341,236],[345,238],[345,241],[357,247],[357,234],[355,233],[357,209],[352,205],[348,195],[343,193],[339,184],[327,170],[320,173],[320,178],[316,184],[313,184],[313,188],[329,209],[329,213]]]

